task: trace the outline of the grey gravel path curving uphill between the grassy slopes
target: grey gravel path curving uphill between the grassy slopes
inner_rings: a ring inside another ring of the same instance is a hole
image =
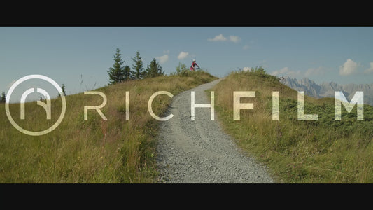
[[[206,92],[217,83],[200,85],[173,97],[173,118],[162,121],[157,144],[160,183],[273,183],[265,166],[237,147],[219,123],[211,120],[210,108],[195,108],[191,120],[190,98],[195,104],[210,104]],[[216,94],[216,93],[215,93]]]

